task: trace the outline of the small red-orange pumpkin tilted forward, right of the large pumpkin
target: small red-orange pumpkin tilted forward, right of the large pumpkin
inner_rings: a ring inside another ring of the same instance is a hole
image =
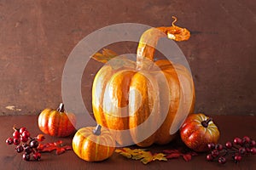
[[[199,152],[209,150],[207,144],[217,144],[219,139],[218,127],[212,118],[202,113],[189,115],[180,128],[180,135],[184,144]]]

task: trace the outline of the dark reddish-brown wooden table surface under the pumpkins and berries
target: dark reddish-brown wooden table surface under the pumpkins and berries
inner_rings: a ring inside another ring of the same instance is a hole
[[[247,135],[256,139],[256,116],[212,116],[218,124],[221,136],[219,143],[224,143],[234,137]],[[12,136],[16,127],[27,127],[32,135],[40,133],[38,129],[38,116],[0,116],[0,169],[256,169],[256,156],[245,156],[239,163],[227,161],[220,165],[217,162],[206,161],[206,153],[194,156],[191,161],[182,158],[169,161],[154,161],[143,165],[140,161],[128,160],[114,153],[107,161],[87,162],[79,159],[72,150],[56,156],[54,152],[43,153],[41,161],[23,161],[21,154],[16,153],[14,145],[5,144],[5,139]],[[45,142],[54,142],[60,138],[46,135]],[[66,144],[71,144],[72,136],[62,138]],[[165,146],[154,145],[148,150],[160,151],[175,148],[174,144]]]

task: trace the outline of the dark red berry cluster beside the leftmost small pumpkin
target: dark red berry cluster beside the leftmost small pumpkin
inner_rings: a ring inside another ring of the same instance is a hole
[[[37,137],[31,138],[30,133],[28,132],[26,127],[13,128],[15,130],[15,132],[13,133],[13,138],[9,137],[8,139],[6,139],[6,144],[15,144],[15,150],[18,153],[24,151],[22,158],[25,161],[30,161],[31,154],[34,160],[39,161],[41,159],[41,154],[38,151],[38,141],[43,141],[44,135],[39,134]]]

